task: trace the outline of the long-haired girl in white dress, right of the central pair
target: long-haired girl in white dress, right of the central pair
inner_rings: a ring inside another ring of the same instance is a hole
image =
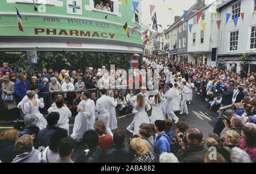
[[[152,112],[151,112],[151,124],[155,124],[156,120],[164,120],[163,112],[161,108],[162,99],[159,95],[159,91],[155,91],[155,96],[151,97],[150,104],[152,105]]]

